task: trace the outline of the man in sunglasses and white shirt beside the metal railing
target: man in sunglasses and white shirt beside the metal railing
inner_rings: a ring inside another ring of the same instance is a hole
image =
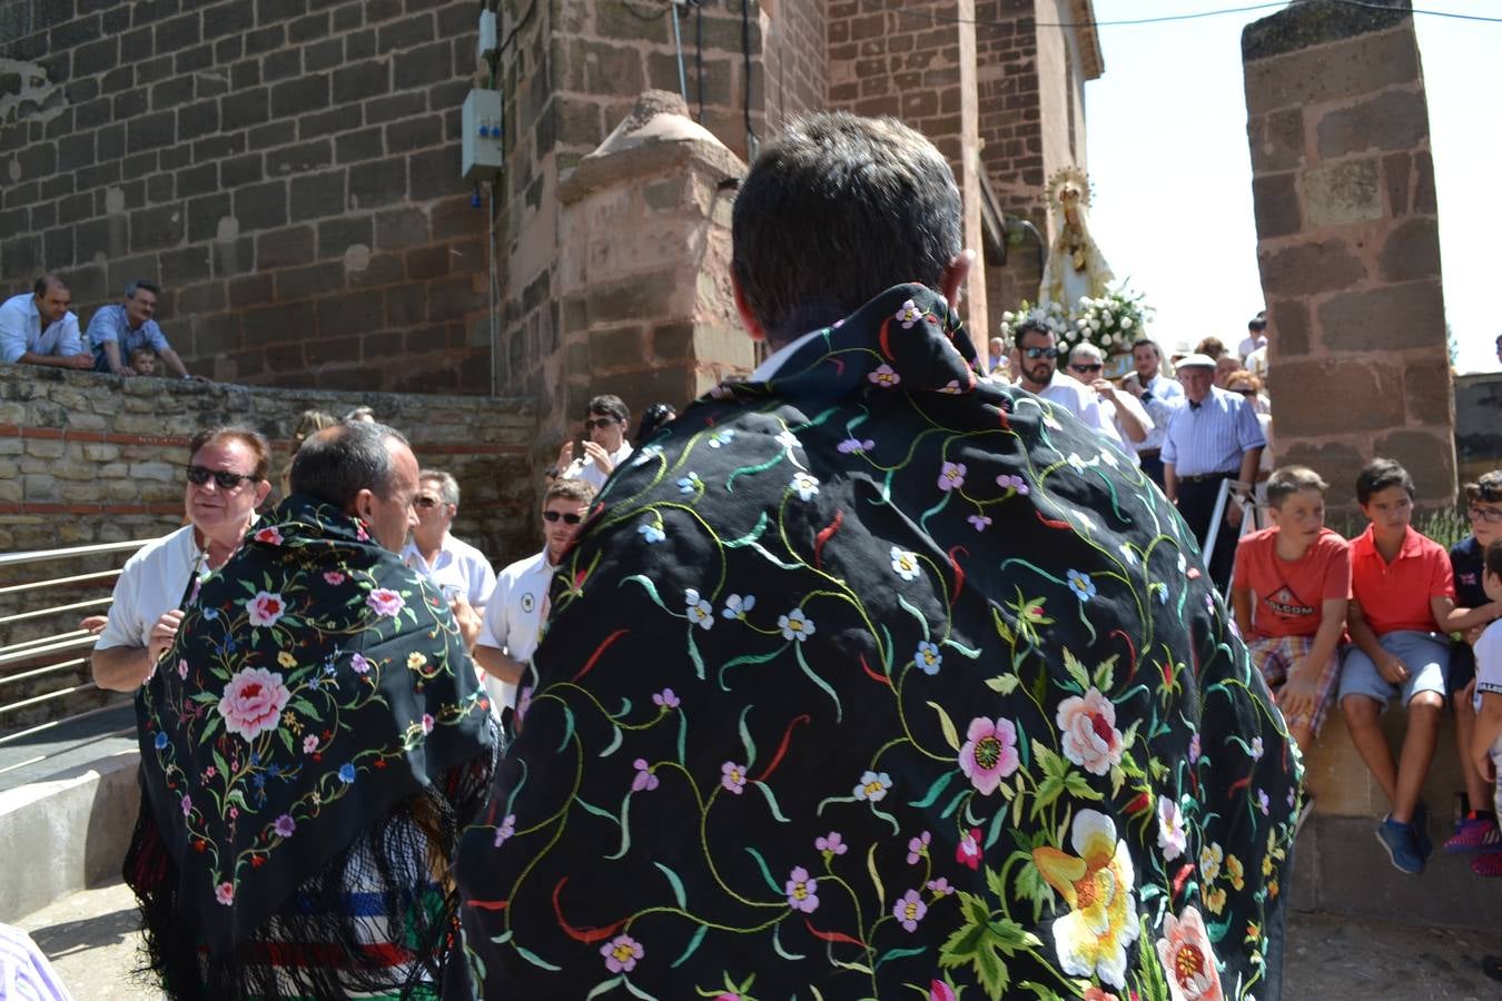
[[[195,578],[224,566],[270,494],[272,449],[248,428],[200,431],[189,444],[183,506],[189,524],[147,543],[125,563],[93,651],[102,689],[134,692],[177,635]]]

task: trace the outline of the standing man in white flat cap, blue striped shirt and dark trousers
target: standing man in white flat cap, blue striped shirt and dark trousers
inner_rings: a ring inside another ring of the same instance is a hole
[[[1268,438],[1250,404],[1212,384],[1212,359],[1191,354],[1179,362],[1178,375],[1188,405],[1173,414],[1163,437],[1163,492],[1179,506],[1190,531],[1203,546],[1221,482],[1254,482]],[[1227,504],[1214,552],[1200,554],[1221,591],[1236,557],[1238,528],[1241,507]]]

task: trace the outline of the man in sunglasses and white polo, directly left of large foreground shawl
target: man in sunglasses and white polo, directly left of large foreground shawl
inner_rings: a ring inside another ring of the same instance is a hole
[[[517,705],[517,684],[547,621],[553,572],[578,534],[592,500],[595,488],[584,480],[554,482],[542,498],[542,552],[512,563],[496,578],[475,642],[475,660],[485,669],[485,690],[497,716]]]

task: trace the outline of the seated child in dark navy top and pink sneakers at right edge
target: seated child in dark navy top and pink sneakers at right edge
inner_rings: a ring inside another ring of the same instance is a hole
[[[1475,483],[1466,483],[1466,509],[1470,534],[1449,549],[1449,567],[1455,575],[1455,605],[1469,609],[1452,623],[1454,629],[1470,632],[1485,627],[1502,615],[1502,603],[1491,600],[1482,588],[1487,546],[1502,539],[1502,470],[1487,473]],[[1470,698],[1470,681],[1476,677],[1476,659],[1464,639],[1449,644],[1449,695],[1455,713],[1455,750],[1460,774],[1466,780],[1469,810],[1455,822],[1455,833],[1445,842],[1445,851],[1493,851],[1502,848],[1497,818],[1491,812],[1491,789],[1482,782],[1470,759],[1472,732],[1476,711]]]

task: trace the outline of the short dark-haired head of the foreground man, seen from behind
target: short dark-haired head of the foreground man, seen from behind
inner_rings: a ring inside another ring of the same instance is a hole
[[[811,114],[740,182],[730,261],[774,347],[847,317],[892,285],[937,288],[961,249],[949,164],[895,119]]]

